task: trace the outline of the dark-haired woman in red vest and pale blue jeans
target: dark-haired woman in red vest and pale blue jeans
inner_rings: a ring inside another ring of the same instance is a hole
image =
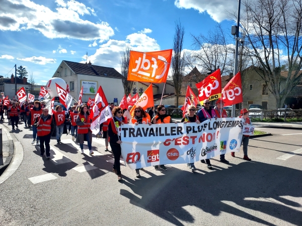
[[[78,125],[78,136],[77,136],[77,143],[80,143],[81,147],[81,154],[84,154],[84,136],[86,137],[88,148],[89,148],[89,154],[93,155],[92,151],[92,131],[90,129],[91,125],[91,119],[89,117],[89,111],[88,106],[84,104],[80,108],[80,112],[78,115],[77,120],[75,120],[75,123]]]

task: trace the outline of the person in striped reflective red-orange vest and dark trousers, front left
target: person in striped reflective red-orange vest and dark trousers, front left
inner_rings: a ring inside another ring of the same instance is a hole
[[[50,159],[50,137],[51,134],[54,132],[55,125],[54,125],[54,119],[51,117],[51,115],[48,114],[48,109],[44,108],[43,113],[41,116],[37,117],[33,128],[37,128],[37,135],[40,138],[40,156],[44,156],[44,144],[46,148],[46,158]]]

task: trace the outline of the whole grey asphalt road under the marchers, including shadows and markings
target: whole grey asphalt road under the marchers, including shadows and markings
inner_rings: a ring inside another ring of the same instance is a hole
[[[252,162],[241,150],[226,155],[229,165],[212,159],[213,170],[200,162],[194,173],[185,164],[148,167],[140,179],[122,166],[120,183],[102,139],[89,156],[63,135],[46,160],[32,132],[19,129],[12,136],[24,159],[0,185],[0,225],[302,225],[302,151],[288,154],[302,150],[301,130],[261,128],[273,136],[250,139]]]

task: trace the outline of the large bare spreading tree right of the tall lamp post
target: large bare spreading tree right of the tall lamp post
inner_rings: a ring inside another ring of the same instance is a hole
[[[241,30],[247,50],[277,107],[282,107],[302,79],[302,0],[246,0],[243,5]],[[283,64],[285,77],[280,73]]]

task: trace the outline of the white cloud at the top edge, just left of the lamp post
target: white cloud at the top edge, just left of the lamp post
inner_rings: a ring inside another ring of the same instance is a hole
[[[238,7],[238,1],[234,0],[175,0],[174,4],[180,9],[194,9],[199,13],[207,12],[218,23],[228,19],[228,12],[232,13]]]

